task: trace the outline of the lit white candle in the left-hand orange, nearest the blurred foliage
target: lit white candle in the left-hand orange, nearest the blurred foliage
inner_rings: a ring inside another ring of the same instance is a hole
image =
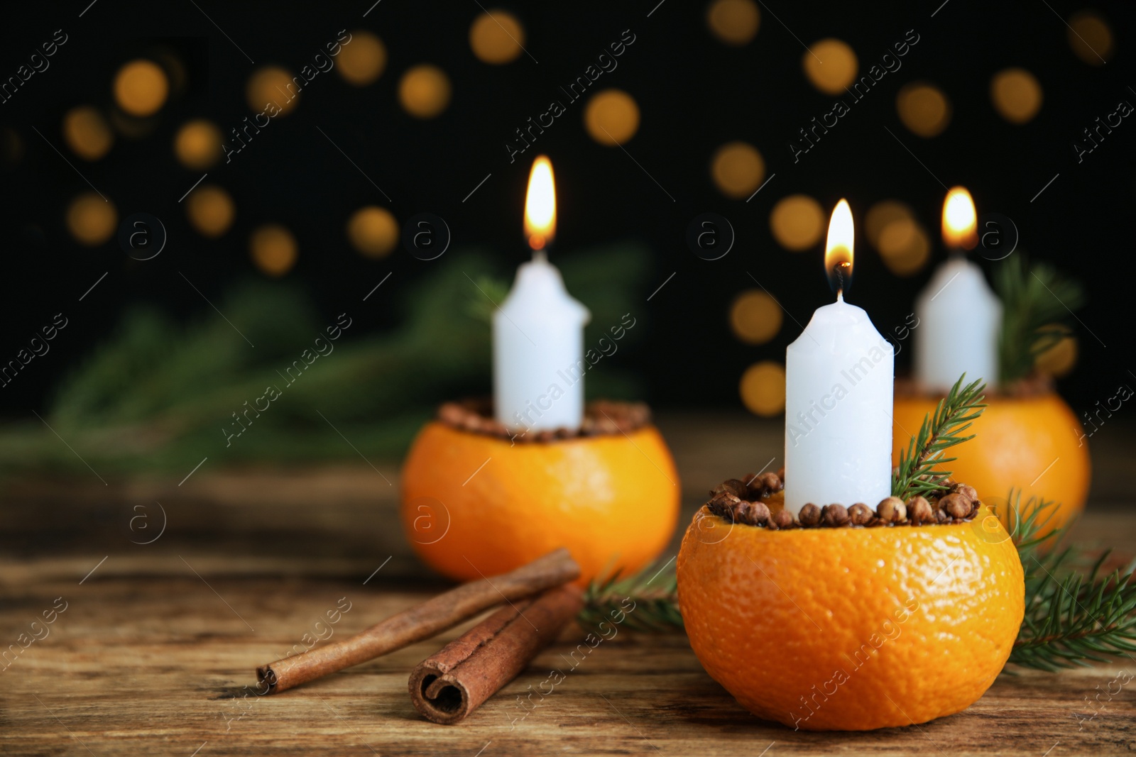
[[[517,269],[509,296],[493,314],[494,413],[515,431],[575,430],[584,417],[584,325],[591,313],[548,260],[556,226],[552,163],[540,155],[525,197],[533,259]]]

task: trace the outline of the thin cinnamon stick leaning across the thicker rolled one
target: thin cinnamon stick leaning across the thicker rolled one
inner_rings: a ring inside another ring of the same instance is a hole
[[[527,597],[578,577],[579,565],[568,550],[557,549],[509,573],[462,583],[350,639],[262,665],[257,668],[257,682],[264,693],[284,691],[428,639],[502,602]]]

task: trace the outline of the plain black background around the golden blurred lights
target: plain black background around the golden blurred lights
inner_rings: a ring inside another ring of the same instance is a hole
[[[761,7],[760,31],[742,48],[727,47],[709,33],[704,2],[509,2],[493,7],[518,16],[532,57],[488,66],[469,49],[469,25],[482,12],[473,1],[383,0],[365,18],[370,0],[199,0],[198,7],[190,0],[160,6],[98,0],[80,17],[87,1],[6,8],[0,24],[3,78],[55,30],[69,35],[50,68],[0,104],[0,127],[15,132],[22,144],[19,159],[6,161],[0,174],[0,361],[15,356],[52,314],[62,311],[72,319],[51,353],[30,365],[31,380],[0,393],[0,412],[7,415],[42,410],[53,381],[95,348],[128,303],[157,302],[182,317],[207,311],[178,271],[210,298],[234,280],[260,276],[248,255],[248,235],[265,222],[283,222],[295,234],[300,258],[286,279],[302,280],[328,316],[393,271],[379,291],[383,296],[371,297],[359,318],[365,328],[389,328],[395,318],[391,289],[429,276],[436,263],[401,249],[383,260],[359,255],[343,232],[350,213],[379,204],[401,222],[431,211],[449,224],[452,249],[484,245],[512,266],[527,255],[520,218],[528,166],[537,151],[551,157],[557,171],[553,261],[558,254],[621,238],[643,239],[653,251],[653,272],[642,283],[650,331],[618,360],[642,373],[646,398],[657,407],[740,407],[737,381],[745,367],[784,360],[785,346],[811,311],[832,300],[820,246],[791,253],[769,233],[769,211],[787,194],[808,193],[826,208],[841,196],[849,199],[861,232],[849,300],[866,308],[882,331],[903,323],[944,253],[936,246],[932,264],[919,275],[896,277],[863,239],[863,213],[878,200],[900,199],[937,236],[944,194],[939,180],[968,186],[979,213],[996,211],[1013,219],[1021,249],[1086,285],[1088,305],[1078,313],[1081,323],[1074,323],[1080,362],[1060,385],[1075,410],[1111,396],[1121,382],[1136,381],[1128,372],[1136,371],[1129,354],[1136,125],[1126,119],[1080,165],[1071,146],[1081,128],[1116,110],[1118,101],[1136,103],[1129,89],[1136,86],[1128,68],[1130,3],[1097,6],[1113,30],[1114,54],[1108,65],[1093,67],[1067,41],[1064,19],[1084,6],[1059,0],[950,0],[943,7],[941,0],[779,2]],[[357,89],[335,73],[318,76],[293,112],[274,118],[231,163],[210,169],[209,182],[233,195],[236,221],[220,239],[202,238],[178,204],[200,173],[175,160],[176,129],[204,117],[227,133],[251,116],[244,89],[254,70],[278,64],[296,72],[344,28],[370,30],[383,40],[389,59],[382,77]],[[640,106],[641,126],[626,152],[587,136],[579,101],[568,104],[533,150],[510,163],[504,142],[512,129],[543,112],[550,100],[563,101],[559,86],[580,75],[624,30],[636,40],[595,89],[626,90]],[[855,50],[863,73],[908,30],[920,40],[902,59],[903,67],[884,77],[794,163],[790,141],[833,102],[805,79],[803,45],[840,37]],[[60,133],[64,113],[83,103],[110,107],[118,67],[160,49],[176,52],[187,79],[153,119],[152,131],[139,140],[119,136],[110,153],[93,163],[72,155]],[[433,120],[412,118],[398,104],[400,76],[419,62],[440,66],[453,85],[449,108]],[[1041,112],[1024,126],[1004,121],[989,101],[991,76],[1008,66],[1027,68],[1044,89]],[[917,79],[939,86],[953,106],[950,127],[930,140],[908,132],[895,112],[896,91]],[[72,241],[62,222],[66,205],[90,187],[33,127],[114,201],[120,220],[134,212],[160,218],[169,235],[162,254],[137,262],[115,239],[97,249]],[[733,140],[757,146],[767,176],[776,175],[749,203],[725,199],[709,176],[711,154]],[[462,202],[487,174],[492,176]],[[1030,202],[1055,174],[1060,176]],[[705,211],[728,218],[737,234],[721,260],[701,260],[685,244],[687,224]],[[105,271],[107,278],[77,302]],[[754,286],[747,271],[792,316],[776,339],[757,347],[738,343],[727,322],[730,301]],[[673,272],[648,303],[646,296]],[[904,350],[900,371],[909,360]]]

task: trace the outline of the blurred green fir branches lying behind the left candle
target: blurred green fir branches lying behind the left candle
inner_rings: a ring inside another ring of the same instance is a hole
[[[179,325],[152,306],[134,308],[56,387],[45,420],[58,436],[34,419],[0,429],[0,471],[86,471],[80,455],[105,476],[185,472],[206,456],[220,464],[398,456],[441,402],[491,393],[490,300],[500,303],[512,277],[493,260],[453,251],[401,292],[392,281],[383,294],[396,297],[400,323],[382,333],[365,334],[357,316],[366,305],[345,302],[340,310],[354,319],[351,327],[293,384],[285,370],[303,364],[304,350],[310,360],[315,339],[335,325],[298,286],[256,281],[232,289],[218,302],[232,326],[211,309]],[[556,262],[592,311],[586,346],[627,312],[638,322],[627,342],[642,338],[644,247],[598,247]],[[601,361],[587,373],[588,396],[637,397],[635,379],[611,364]],[[233,413],[253,406],[268,386],[281,396],[228,439],[241,428]]]

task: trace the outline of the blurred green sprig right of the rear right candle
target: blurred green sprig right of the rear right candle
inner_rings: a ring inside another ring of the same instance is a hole
[[[1046,263],[1030,264],[1020,254],[995,270],[994,288],[1002,301],[999,384],[1004,387],[1029,376],[1037,355],[1068,334],[1064,321],[1085,296],[1077,281]]]

